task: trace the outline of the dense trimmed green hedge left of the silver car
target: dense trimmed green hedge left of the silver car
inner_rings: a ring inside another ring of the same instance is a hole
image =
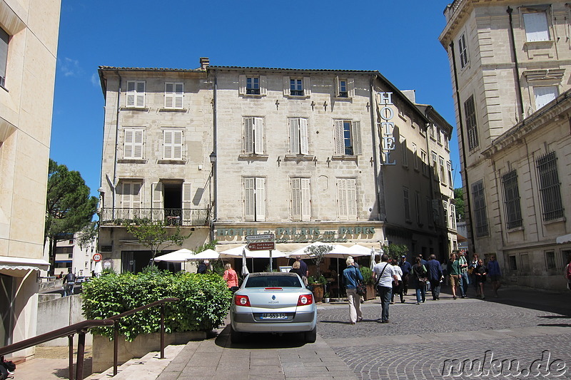
[[[232,293],[218,274],[172,274],[147,267],[138,274],[108,273],[93,279],[83,284],[81,294],[86,319],[113,317],[167,297],[180,301],[165,304],[166,332],[210,331],[222,324]],[[121,319],[119,333],[132,341],[139,334],[158,332],[160,324],[161,309],[153,307]],[[113,338],[113,328],[92,332]]]

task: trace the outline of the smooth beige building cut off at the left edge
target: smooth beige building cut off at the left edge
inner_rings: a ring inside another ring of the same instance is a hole
[[[60,1],[0,0],[0,345],[34,337]],[[29,356],[34,349],[15,353]]]

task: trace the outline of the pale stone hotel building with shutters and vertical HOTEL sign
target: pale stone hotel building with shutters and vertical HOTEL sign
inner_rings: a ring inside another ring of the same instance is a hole
[[[388,241],[440,257],[456,247],[452,127],[378,71],[208,66],[201,58],[196,70],[102,67],[100,74],[106,93],[100,247],[103,256],[108,250],[112,260],[123,260],[123,270],[138,269],[124,260],[132,260],[128,247],[135,260],[141,247],[113,221],[141,207],[168,217],[166,201],[153,203],[160,191],[154,186],[173,180],[183,203],[170,207],[195,230],[189,249],[216,239],[221,251],[261,233],[275,234],[283,252],[313,241],[376,249]],[[165,111],[166,83],[177,82],[189,104]],[[126,106],[130,91],[141,106]],[[174,127],[182,130],[186,155],[163,163],[161,130]],[[121,136],[133,128],[143,130],[137,140],[143,153],[126,159]],[[133,180],[136,188],[121,188]],[[166,199],[166,185],[162,191]],[[136,198],[120,204],[125,194]],[[185,217],[193,207],[206,218]]]

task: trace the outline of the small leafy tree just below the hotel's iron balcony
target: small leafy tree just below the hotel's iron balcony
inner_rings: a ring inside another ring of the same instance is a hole
[[[126,222],[127,232],[133,235],[139,244],[151,250],[151,266],[155,264],[155,257],[162,250],[173,245],[179,247],[184,240],[192,235],[181,235],[181,226],[176,226],[173,233],[169,233],[167,225],[162,220],[136,219],[134,222]],[[170,228],[170,227],[169,227]]]

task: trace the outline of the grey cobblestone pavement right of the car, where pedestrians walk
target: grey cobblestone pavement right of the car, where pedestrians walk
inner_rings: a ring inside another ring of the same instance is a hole
[[[355,325],[346,304],[320,309],[318,332],[358,379],[571,379],[571,313],[446,295],[420,305],[406,298],[390,305],[388,324],[378,321],[378,300],[362,305],[363,322]],[[478,360],[484,372],[470,374]],[[511,369],[506,360],[515,360]]]

